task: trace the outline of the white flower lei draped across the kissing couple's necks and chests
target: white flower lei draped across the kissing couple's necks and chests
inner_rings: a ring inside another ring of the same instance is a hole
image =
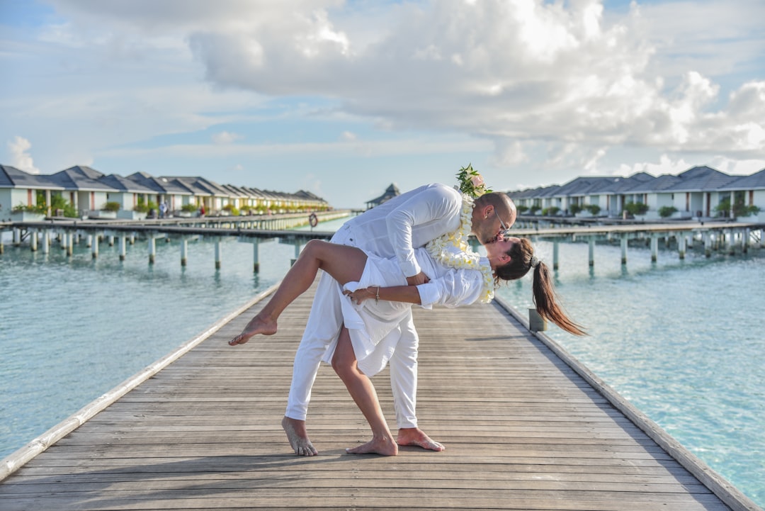
[[[437,262],[456,269],[480,270],[483,274],[483,288],[479,301],[487,304],[494,298],[494,275],[488,261],[481,262],[481,257],[467,242],[473,224],[473,208],[475,203],[467,194],[462,194],[462,211],[460,227],[453,233],[446,233],[425,245],[425,249]]]

